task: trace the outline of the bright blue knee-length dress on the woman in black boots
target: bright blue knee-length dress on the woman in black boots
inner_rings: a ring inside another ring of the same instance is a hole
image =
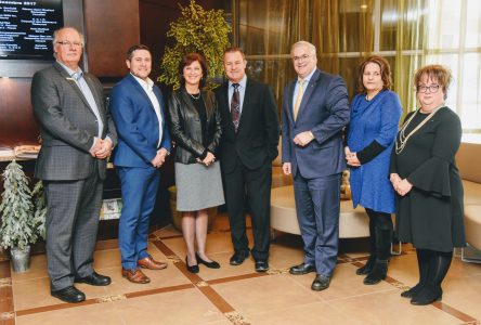
[[[376,141],[386,147],[370,161],[351,168],[350,183],[352,203],[377,212],[393,213],[394,190],[389,181],[389,165],[395,134],[401,118],[401,103],[398,94],[384,90],[373,100],[358,94],[351,104],[351,122],[348,146],[360,152]]]

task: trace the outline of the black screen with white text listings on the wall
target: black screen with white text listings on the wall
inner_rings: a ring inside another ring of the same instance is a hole
[[[0,60],[53,60],[52,35],[63,24],[62,0],[0,0]]]

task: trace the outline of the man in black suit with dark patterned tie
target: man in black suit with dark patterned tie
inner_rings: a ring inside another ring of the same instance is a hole
[[[222,116],[221,169],[234,255],[232,265],[249,256],[245,213],[250,208],[256,271],[269,270],[272,160],[277,156],[278,117],[268,84],[246,76],[240,48],[224,52],[227,82],[217,90]]]

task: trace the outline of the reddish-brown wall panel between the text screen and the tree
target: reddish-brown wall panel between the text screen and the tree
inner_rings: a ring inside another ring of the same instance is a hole
[[[140,42],[139,0],[83,0],[88,70],[122,77],[126,52]]]

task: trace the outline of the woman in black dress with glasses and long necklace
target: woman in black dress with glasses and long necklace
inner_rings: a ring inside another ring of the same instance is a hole
[[[419,283],[401,294],[413,304],[441,300],[454,247],[466,246],[463,183],[455,162],[458,116],[445,106],[450,72],[428,65],[415,75],[420,108],[401,127],[391,157],[399,239],[416,247]]]

